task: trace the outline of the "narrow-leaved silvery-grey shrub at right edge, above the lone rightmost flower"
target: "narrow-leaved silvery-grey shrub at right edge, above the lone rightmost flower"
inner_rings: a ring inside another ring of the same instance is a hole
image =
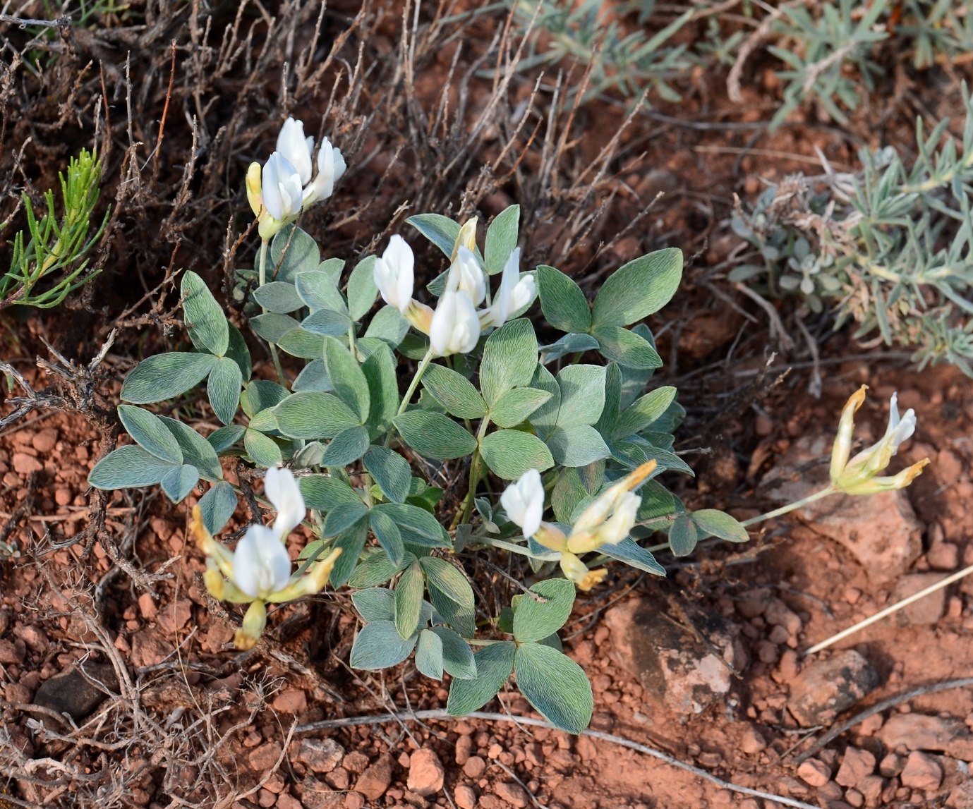
[[[947,121],[917,122],[918,157],[894,149],[859,152],[854,174],[789,177],[752,208],[738,206],[734,230],[756,248],[730,278],[776,296],[824,307],[836,328],[912,349],[922,367],[945,360],[973,375],[973,101],[963,87],[962,140]]]

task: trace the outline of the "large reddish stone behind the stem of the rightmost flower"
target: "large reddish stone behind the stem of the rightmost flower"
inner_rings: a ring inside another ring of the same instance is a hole
[[[762,481],[768,499],[796,503],[830,483],[827,464],[809,462],[831,454],[833,434],[794,441]],[[902,490],[869,497],[834,495],[795,512],[824,535],[843,545],[873,583],[898,580],[922,552],[922,525]]]

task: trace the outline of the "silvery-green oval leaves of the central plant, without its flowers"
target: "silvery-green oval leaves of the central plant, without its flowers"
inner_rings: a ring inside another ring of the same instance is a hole
[[[410,224],[450,259],[466,238],[466,261],[482,263],[488,287],[493,276],[508,283],[527,277],[505,269],[519,256],[519,219],[517,206],[499,214],[482,252],[469,247],[469,223],[461,229],[423,214]],[[625,264],[591,302],[556,267],[536,267],[523,286],[536,288],[540,305],[532,314],[547,321],[544,334],[563,336],[538,344],[525,316],[531,299],[499,328],[487,325],[470,352],[438,359],[400,308],[376,305],[374,256],[347,267],[323,259],[306,232],[289,226],[273,237],[266,260],[266,283],[252,291],[261,314],[248,328],[305,361],[300,374],[286,382],[252,376],[242,334],[202,279],[185,273],[184,321],[196,350],[149,357],[128,374],[119,417],[133,442],[102,458],[90,483],[160,484],[176,503],[201,487],[200,517],[215,534],[236,506],[221,459],[258,469],[290,466],[315,535],[301,552],[299,574],[322,553],[342,549],[331,581],[352,589],[364,622],[352,666],[387,668],[414,655],[423,674],[450,675],[449,707],[457,714],[485,704],[516,673],[538,711],[579,732],[591,718],[591,686],[560,652],[556,634],[575,584],[547,578],[557,564],[548,549],[524,538],[486,492],[537,470],[550,508],[566,525],[612,481],[648,461],[656,463],[655,475],[692,474],[672,451],[683,410],[674,388],[651,384],[662,360],[642,323],[674,295],[682,254],[660,250]],[[433,280],[430,302],[446,287],[445,276]],[[412,311],[408,301],[401,309]],[[489,299],[480,316],[491,322]],[[421,360],[421,370],[407,401],[400,379],[414,372],[410,358]],[[144,406],[190,392],[204,396],[222,424],[205,437]],[[431,473],[443,465],[470,474],[465,499],[451,493],[446,508],[440,478]],[[490,475],[493,482],[478,490]],[[657,531],[675,528],[671,540],[680,553],[703,536],[746,537],[729,515],[686,513],[660,479],[647,482],[640,498],[631,536],[598,548],[636,569],[665,575],[640,545]],[[501,616],[478,604],[467,567],[489,547],[527,557],[540,579]],[[490,624],[492,637],[477,639],[478,627]]]

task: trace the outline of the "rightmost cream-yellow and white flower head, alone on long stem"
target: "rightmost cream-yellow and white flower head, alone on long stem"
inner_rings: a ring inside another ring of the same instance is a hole
[[[888,406],[888,427],[881,440],[876,441],[867,449],[863,449],[851,460],[852,433],[854,431],[854,414],[865,401],[867,385],[862,385],[849,398],[842,409],[841,421],[838,425],[838,436],[835,438],[831,450],[831,485],[845,494],[874,494],[892,489],[902,489],[908,486],[922,472],[922,468],[929,463],[925,458],[919,463],[902,470],[898,475],[877,477],[888,466],[892,456],[898,452],[903,441],[912,438],[916,432],[916,412],[910,408],[899,418],[898,395],[892,394]]]

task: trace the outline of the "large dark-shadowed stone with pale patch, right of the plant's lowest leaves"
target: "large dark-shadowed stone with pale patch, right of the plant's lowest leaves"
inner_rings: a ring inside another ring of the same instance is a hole
[[[717,614],[701,616],[694,632],[670,620],[657,599],[631,598],[605,613],[605,624],[617,663],[678,714],[702,713],[722,699],[731,668],[746,662],[731,625]]]

